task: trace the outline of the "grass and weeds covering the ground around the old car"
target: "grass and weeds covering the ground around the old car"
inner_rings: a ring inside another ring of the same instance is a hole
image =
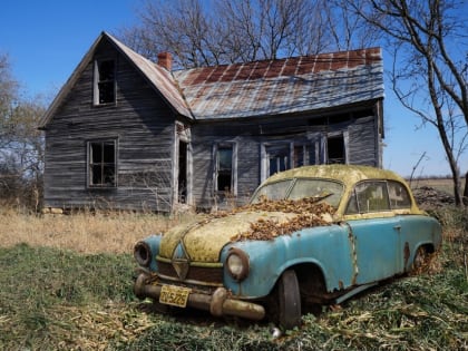
[[[126,241],[131,235],[127,231],[142,231],[136,234],[140,238],[164,230],[168,220],[20,217],[25,222],[16,233],[30,230],[21,240],[31,243],[9,238],[0,245],[0,350],[468,350],[468,216],[457,208],[438,211],[433,215],[443,225],[445,242],[435,259],[437,269],[324,308],[319,316],[304,315],[300,329],[280,338],[272,335],[275,325],[266,323],[193,311],[147,312],[150,303],[131,292],[135,265],[128,246],[134,240]],[[11,235],[4,227],[12,228],[4,218],[2,241]],[[162,228],[152,230],[155,223]],[[111,234],[105,235],[106,227]],[[68,240],[74,233],[89,241],[77,251]],[[125,250],[116,250],[114,235],[126,243]]]

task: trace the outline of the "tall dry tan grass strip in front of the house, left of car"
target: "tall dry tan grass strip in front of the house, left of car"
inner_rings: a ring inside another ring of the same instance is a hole
[[[131,253],[134,244],[188,220],[154,214],[90,214],[32,216],[0,212],[0,246],[19,243],[69,248],[78,253]]]

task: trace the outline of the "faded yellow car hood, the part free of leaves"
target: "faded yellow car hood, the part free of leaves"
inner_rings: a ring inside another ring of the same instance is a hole
[[[273,221],[283,224],[296,216],[282,212],[240,212],[220,217],[198,217],[191,224],[175,226],[165,233],[159,255],[172,259],[182,242],[192,262],[218,262],[221,250],[233,237],[248,232],[253,223]]]

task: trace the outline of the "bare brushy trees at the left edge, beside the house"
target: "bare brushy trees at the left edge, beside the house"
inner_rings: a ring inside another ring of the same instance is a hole
[[[0,193],[3,203],[39,207],[43,139],[37,129],[43,104],[20,97],[6,56],[0,57]]]

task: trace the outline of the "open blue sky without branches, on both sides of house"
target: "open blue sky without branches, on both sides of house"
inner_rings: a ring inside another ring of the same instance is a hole
[[[3,0],[0,52],[8,53],[13,77],[26,96],[53,98],[89,47],[105,30],[118,33],[137,21],[142,0]],[[390,68],[384,57],[384,66]],[[433,127],[403,109],[386,86],[383,167],[408,176],[426,152],[416,175],[448,175],[450,169]],[[460,162],[468,170],[468,154]]]

